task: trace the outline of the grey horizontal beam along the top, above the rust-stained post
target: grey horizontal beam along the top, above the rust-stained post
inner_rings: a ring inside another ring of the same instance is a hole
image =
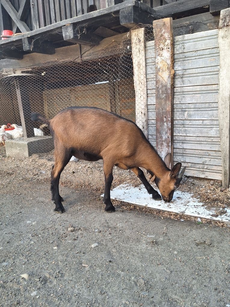
[[[192,14],[209,12],[210,0],[179,0],[163,6],[155,7],[158,17],[186,17]]]

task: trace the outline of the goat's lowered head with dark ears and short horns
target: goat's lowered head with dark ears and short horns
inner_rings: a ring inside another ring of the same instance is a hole
[[[168,153],[164,158],[164,162],[167,167],[170,165],[171,153]],[[181,168],[181,163],[176,163],[173,168],[167,171],[160,179],[156,176],[151,178],[151,181],[155,181],[155,184],[159,188],[161,196],[165,202],[169,202],[173,198],[174,191],[178,189],[183,174],[185,172],[185,167]]]

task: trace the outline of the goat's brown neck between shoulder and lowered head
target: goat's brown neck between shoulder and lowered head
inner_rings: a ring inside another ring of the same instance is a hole
[[[143,145],[141,167],[151,171],[159,179],[162,178],[169,169],[148,142]]]

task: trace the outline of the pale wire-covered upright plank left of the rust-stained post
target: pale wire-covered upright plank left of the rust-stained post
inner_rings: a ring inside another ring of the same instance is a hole
[[[136,124],[148,139],[147,82],[145,67],[145,29],[131,31]]]

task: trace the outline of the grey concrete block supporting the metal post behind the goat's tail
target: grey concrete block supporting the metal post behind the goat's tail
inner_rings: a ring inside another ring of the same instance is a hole
[[[6,145],[6,156],[23,159],[33,153],[47,153],[54,148],[51,136],[34,136],[32,138],[17,138],[8,140]]]

